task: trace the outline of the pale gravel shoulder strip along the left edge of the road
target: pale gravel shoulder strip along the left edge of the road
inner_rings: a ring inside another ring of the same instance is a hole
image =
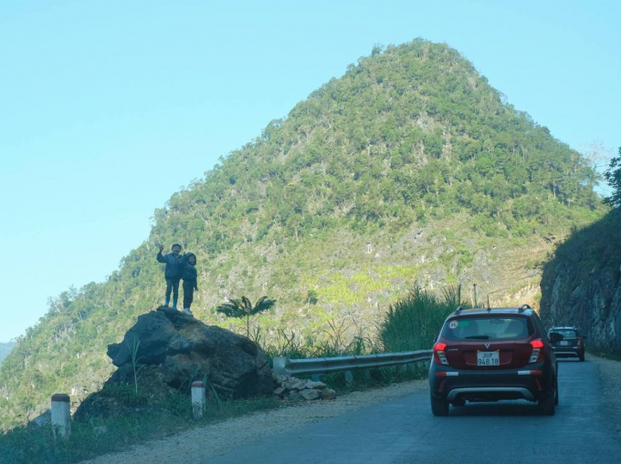
[[[256,440],[301,428],[311,422],[403,397],[428,388],[426,380],[403,382],[392,387],[357,391],[332,401],[312,401],[233,418],[173,437],[152,440],[129,450],[81,461],[81,464],[153,464],[156,462],[204,462]]]

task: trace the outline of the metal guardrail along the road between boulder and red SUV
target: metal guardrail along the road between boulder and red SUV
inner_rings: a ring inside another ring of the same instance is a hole
[[[433,350],[405,351],[366,356],[315,357],[311,359],[274,358],[274,373],[279,376],[295,374],[328,374],[329,372],[374,369],[375,367],[401,366],[429,361]]]

